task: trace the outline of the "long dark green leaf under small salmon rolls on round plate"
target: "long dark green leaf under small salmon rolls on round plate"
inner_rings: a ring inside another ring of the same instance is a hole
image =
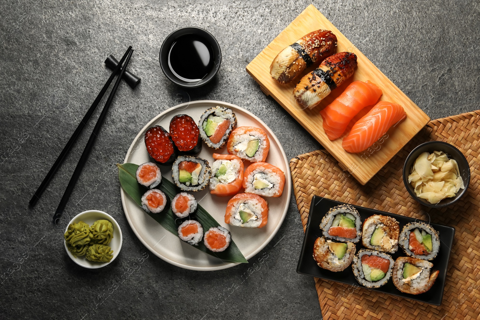
[[[119,168],[119,180],[120,185],[125,192],[127,192],[132,199],[139,205],[142,206],[142,195],[145,193],[146,188],[140,185],[137,182],[136,172],[138,165],[132,163],[124,163],[124,164],[117,164]],[[160,185],[160,190],[165,192],[165,194],[170,198],[170,201],[173,200],[175,195],[180,192],[177,186],[163,178],[162,184]],[[176,219],[175,215],[173,214],[171,207],[168,210],[162,213],[148,213],[152,218],[156,220],[160,225],[162,225],[165,229],[173,233],[175,236],[178,237],[178,227],[181,224],[180,219]],[[200,222],[204,228],[204,231],[207,231],[209,228],[220,225],[216,220],[201,206],[197,206],[196,212],[196,220]],[[179,241],[181,241],[179,239]],[[231,241],[230,246],[227,250],[223,252],[212,252],[208,250],[203,242],[200,242],[198,246],[192,246],[193,248],[199,249],[208,253],[211,256],[217,257],[219,259],[230,261],[230,262],[241,262],[247,263],[248,261],[245,259],[243,254],[241,253],[240,249],[237,247],[235,242]]]

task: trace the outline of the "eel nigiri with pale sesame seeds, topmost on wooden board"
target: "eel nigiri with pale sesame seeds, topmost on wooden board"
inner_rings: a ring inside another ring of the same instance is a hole
[[[335,49],[336,36],[331,31],[313,31],[280,51],[272,61],[270,74],[279,83],[288,83],[308,66],[331,56]]]

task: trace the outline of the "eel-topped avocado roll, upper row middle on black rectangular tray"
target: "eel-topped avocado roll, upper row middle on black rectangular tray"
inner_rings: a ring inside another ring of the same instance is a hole
[[[363,222],[362,244],[365,248],[394,253],[398,250],[400,227],[395,218],[375,214]]]

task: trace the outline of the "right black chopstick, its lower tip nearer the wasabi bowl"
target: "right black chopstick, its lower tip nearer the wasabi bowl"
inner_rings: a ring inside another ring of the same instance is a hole
[[[130,47],[131,48],[131,47]],[[113,85],[113,89],[110,92],[110,95],[108,96],[108,100],[105,103],[105,107],[103,107],[102,113],[100,114],[100,117],[98,117],[98,120],[96,121],[95,128],[92,131],[92,134],[90,135],[90,138],[88,139],[88,142],[85,146],[84,152],[82,153],[82,156],[80,157],[80,160],[78,160],[78,164],[75,167],[75,171],[73,171],[72,178],[70,178],[70,182],[68,183],[67,189],[63,193],[63,196],[60,200],[59,206],[57,208],[57,211],[53,215],[53,222],[57,224],[58,220],[61,217],[61,214],[63,213],[63,210],[65,209],[65,206],[67,205],[68,199],[70,198],[70,195],[72,194],[73,189],[75,188],[75,184],[77,183],[78,177],[80,177],[80,174],[82,172],[82,169],[84,168],[84,165],[87,161],[88,155],[90,154],[90,151],[92,150],[93,144],[95,143],[96,137],[98,136],[98,132],[100,131],[100,128],[102,127],[103,121],[105,120],[105,117],[107,116],[108,108],[110,107],[110,104],[112,103],[113,97],[115,96],[115,93],[117,92],[117,89],[119,87],[119,84],[121,82],[121,78],[123,77],[123,73],[125,73],[125,70],[127,70],[128,62],[130,61],[130,58],[132,57],[133,50],[130,49],[127,59],[125,60],[125,65],[123,66],[122,70],[120,71],[119,76],[117,77],[117,81]],[[121,66],[121,64],[118,64]]]

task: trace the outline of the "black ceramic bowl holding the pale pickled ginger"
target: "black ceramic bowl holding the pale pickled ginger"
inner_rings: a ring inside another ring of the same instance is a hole
[[[446,198],[436,204],[432,204],[425,199],[420,199],[415,194],[415,190],[413,187],[408,183],[408,176],[410,175],[410,170],[417,160],[418,156],[424,152],[432,153],[433,151],[443,151],[445,154],[448,155],[450,159],[454,159],[458,164],[458,170],[460,170],[460,176],[462,176],[463,184],[465,185],[464,189],[458,190],[455,197]],[[467,193],[468,184],[470,183],[470,166],[468,166],[467,158],[463,155],[460,150],[456,147],[451,145],[450,143],[442,142],[442,141],[429,141],[420,144],[415,149],[408,154],[407,160],[405,160],[405,164],[403,165],[403,183],[405,183],[405,188],[407,188],[408,193],[413,197],[413,199],[419,201],[421,204],[432,208],[443,208],[449,205],[454,204],[458,201],[465,193]]]

